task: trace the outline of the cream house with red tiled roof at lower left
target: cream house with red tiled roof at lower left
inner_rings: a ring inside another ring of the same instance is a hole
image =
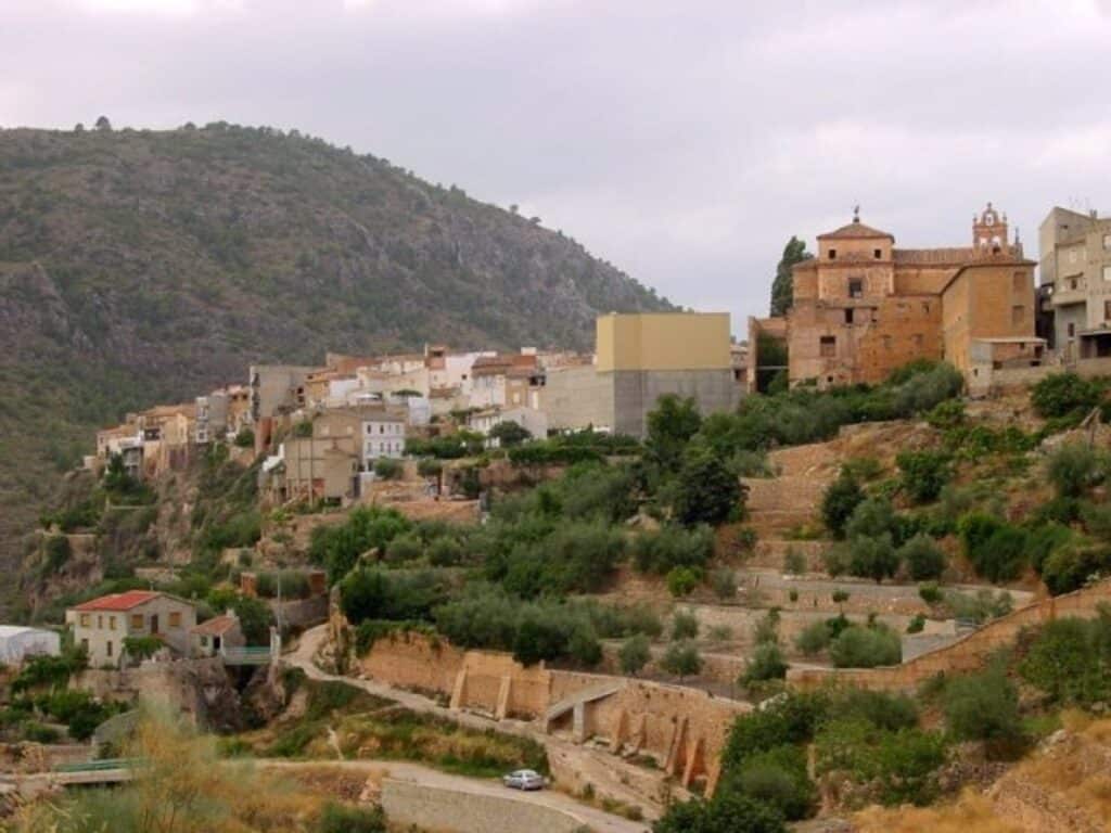
[[[128,636],[156,636],[174,653],[189,655],[197,611],[189,602],[146,590],[129,590],[78,604],[66,611],[73,641],[89,655],[91,668],[118,666]]]

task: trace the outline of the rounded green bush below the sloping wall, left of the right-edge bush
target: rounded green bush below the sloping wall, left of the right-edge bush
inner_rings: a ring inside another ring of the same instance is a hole
[[[1010,741],[1022,733],[1019,692],[999,670],[950,680],[943,695],[945,724],[964,741]]]

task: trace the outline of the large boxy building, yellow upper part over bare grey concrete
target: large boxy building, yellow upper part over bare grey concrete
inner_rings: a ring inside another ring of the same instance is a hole
[[[593,365],[546,373],[537,394],[550,430],[643,436],[660,397],[691,397],[702,413],[735,407],[728,313],[602,315]]]

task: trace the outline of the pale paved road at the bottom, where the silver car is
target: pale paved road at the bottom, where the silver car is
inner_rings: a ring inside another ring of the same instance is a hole
[[[493,795],[500,799],[524,801],[549,806],[577,817],[582,824],[597,833],[645,833],[648,825],[643,822],[631,822],[610,813],[604,813],[584,804],[580,804],[569,795],[554,790],[537,792],[517,792],[502,786],[498,781],[469,779],[461,775],[449,775],[444,772],[429,769],[408,761],[281,761],[260,759],[256,764],[266,769],[304,770],[311,767],[354,770],[366,772],[369,776],[379,772],[398,781],[411,781],[429,789],[454,790],[471,795]],[[538,832],[539,833],[539,832]]]

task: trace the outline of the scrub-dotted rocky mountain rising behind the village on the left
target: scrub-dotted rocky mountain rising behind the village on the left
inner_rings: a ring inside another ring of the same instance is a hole
[[[296,131],[0,131],[0,563],[97,425],[250,362],[589,348],[599,312],[670,308],[539,219]]]

